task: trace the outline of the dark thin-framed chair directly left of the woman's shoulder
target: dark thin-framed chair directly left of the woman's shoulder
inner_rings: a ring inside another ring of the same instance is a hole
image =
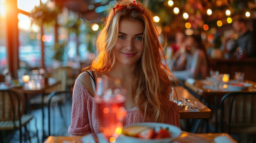
[[[52,92],[49,95],[49,101],[48,101],[48,135],[49,136],[52,135],[51,134],[51,107],[52,107],[51,104],[52,104],[52,102],[55,102],[55,101],[53,101],[54,98],[57,98],[57,99],[65,98],[65,99],[70,99],[71,100],[72,96],[70,96],[70,95],[72,95],[72,92],[73,91],[71,91],[71,90],[68,90],[68,91],[57,91],[57,92]],[[61,112],[61,110],[60,110],[60,112]]]

